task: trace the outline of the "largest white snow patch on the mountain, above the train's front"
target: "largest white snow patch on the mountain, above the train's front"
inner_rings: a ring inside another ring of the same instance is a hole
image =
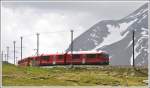
[[[103,38],[104,41],[99,46],[94,48],[93,50],[103,47],[105,45],[110,45],[112,43],[118,42],[121,39],[123,39],[129,33],[129,31],[127,31],[124,35],[122,35],[122,33],[124,31],[126,31],[126,29],[130,25],[132,25],[136,20],[137,19],[130,21],[128,23],[121,23],[121,24],[119,24],[120,27],[115,27],[114,25],[107,24],[106,26],[107,26],[108,32],[109,32],[108,36],[104,37]]]

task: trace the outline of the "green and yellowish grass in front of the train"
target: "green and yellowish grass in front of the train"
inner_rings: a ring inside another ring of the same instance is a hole
[[[40,68],[18,67],[3,64],[4,86],[144,86],[148,79],[147,68],[113,67],[102,68]]]

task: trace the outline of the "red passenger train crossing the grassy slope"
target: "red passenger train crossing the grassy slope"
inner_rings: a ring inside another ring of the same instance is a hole
[[[77,52],[49,54],[24,58],[18,61],[19,66],[49,65],[108,65],[109,55],[106,52]]]

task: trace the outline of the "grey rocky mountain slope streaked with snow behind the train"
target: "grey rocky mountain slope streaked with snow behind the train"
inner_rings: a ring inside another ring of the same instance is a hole
[[[132,63],[135,30],[135,64],[148,64],[148,3],[120,20],[103,20],[74,39],[74,51],[104,50],[111,65]],[[70,46],[66,51],[70,51]]]

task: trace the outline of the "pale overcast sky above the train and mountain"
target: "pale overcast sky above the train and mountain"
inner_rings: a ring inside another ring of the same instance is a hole
[[[23,57],[35,55],[36,33],[40,33],[40,54],[62,53],[74,38],[101,20],[118,20],[135,11],[145,2],[2,2],[2,50],[13,41],[20,58],[20,36],[23,36]],[[13,62],[13,60],[11,60]]]

